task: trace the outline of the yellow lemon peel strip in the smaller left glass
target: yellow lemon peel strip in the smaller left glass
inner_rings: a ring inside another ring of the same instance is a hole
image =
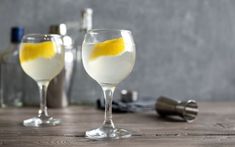
[[[20,62],[36,58],[52,58],[55,55],[55,44],[52,41],[42,43],[23,43],[20,52]]]

